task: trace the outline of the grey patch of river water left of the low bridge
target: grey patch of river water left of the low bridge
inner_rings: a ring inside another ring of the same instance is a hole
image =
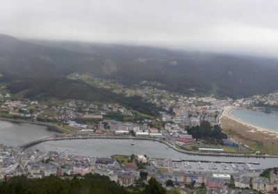
[[[57,132],[50,131],[42,125],[0,121],[0,144],[4,145],[22,145],[53,134]]]

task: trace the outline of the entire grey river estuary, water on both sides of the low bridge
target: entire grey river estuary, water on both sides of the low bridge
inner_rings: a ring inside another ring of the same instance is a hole
[[[49,131],[47,127],[28,123],[10,123],[0,121],[0,143],[5,145],[22,145],[35,139],[42,139],[51,136],[56,132]],[[135,145],[131,145],[134,143]],[[149,157],[185,159],[185,160],[206,160],[206,161],[234,161],[234,162],[259,162],[256,168],[268,168],[278,166],[278,159],[258,159],[245,157],[208,157],[186,155],[163,143],[154,141],[134,141],[115,139],[86,139],[86,140],[66,140],[47,141],[33,145],[30,149],[52,150],[67,152],[72,155],[83,155],[93,157],[110,157],[111,155],[131,155],[140,154]]]

